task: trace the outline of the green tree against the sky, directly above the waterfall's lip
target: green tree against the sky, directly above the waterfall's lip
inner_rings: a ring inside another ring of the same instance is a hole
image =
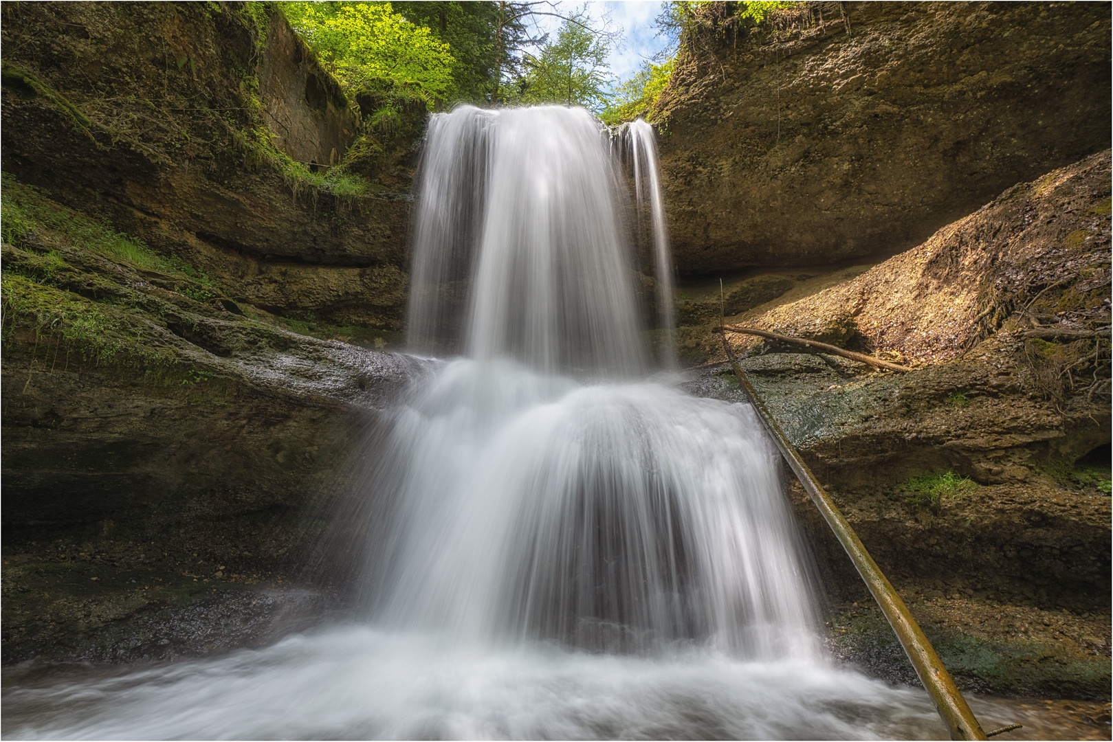
[[[569,18],[556,32],[556,40],[542,47],[539,55],[526,55],[528,71],[521,82],[521,100],[528,103],[564,103],[602,109],[608,102],[605,38],[592,32],[587,19]]]

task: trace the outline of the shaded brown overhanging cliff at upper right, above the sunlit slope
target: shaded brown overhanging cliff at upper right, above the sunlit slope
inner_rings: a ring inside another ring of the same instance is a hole
[[[707,40],[661,139],[682,273],[895,254],[1110,142],[1100,4],[848,2]]]

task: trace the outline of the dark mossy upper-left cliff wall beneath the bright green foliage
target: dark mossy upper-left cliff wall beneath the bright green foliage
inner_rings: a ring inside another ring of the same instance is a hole
[[[262,144],[274,133],[293,159],[328,165],[358,123],[284,20],[236,3],[96,2],[3,19],[4,170],[237,301],[401,329],[408,184],[334,196],[284,175]]]

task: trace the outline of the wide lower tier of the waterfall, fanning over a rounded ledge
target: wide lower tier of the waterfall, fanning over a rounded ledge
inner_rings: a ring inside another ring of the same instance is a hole
[[[457,360],[398,415],[368,592],[401,629],[816,656],[775,452],[748,407]],[[380,493],[382,496],[382,492]]]

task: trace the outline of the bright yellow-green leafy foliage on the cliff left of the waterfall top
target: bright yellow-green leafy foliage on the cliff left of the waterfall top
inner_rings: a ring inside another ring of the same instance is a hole
[[[454,85],[455,60],[433,32],[388,2],[283,2],[294,29],[346,90],[387,80],[413,87],[430,108]]]

